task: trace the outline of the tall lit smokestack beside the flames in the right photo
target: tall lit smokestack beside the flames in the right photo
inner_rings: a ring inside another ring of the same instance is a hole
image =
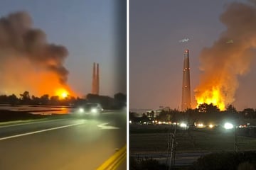
[[[181,111],[191,108],[189,51],[184,51]]]

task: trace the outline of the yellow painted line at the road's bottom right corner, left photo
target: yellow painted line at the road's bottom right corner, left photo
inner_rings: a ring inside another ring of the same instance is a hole
[[[117,166],[119,166],[126,158],[126,154],[127,145],[124,145],[122,149],[119,149],[119,151],[115,152],[109,159],[107,159],[107,161],[105,161],[100,167],[98,167],[97,170],[117,169]]]

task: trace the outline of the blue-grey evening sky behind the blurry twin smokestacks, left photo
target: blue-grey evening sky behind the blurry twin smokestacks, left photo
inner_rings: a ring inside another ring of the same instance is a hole
[[[119,91],[126,94],[126,67],[118,67],[126,65],[126,39],[122,40],[126,38],[126,5],[122,4],[124,10],[119,10],[119,4],[116,0],[3,0],[0,16],[28,12],[33,27],[43,30],[48,42],[67,47],[65,67],[70,72],[68,84],[74,91],[82,96],[90,93],[92,63],[98,62],[100,94],[113,96]],[[121,46],[122,52],[118,50]]]

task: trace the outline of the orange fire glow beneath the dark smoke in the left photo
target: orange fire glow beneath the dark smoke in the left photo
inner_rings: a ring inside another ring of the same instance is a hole
[[[16,69],[21,66],[22,69]],[[19,96],[23,91],[28,91],[31,96],[41,97],[48,94],[49,96],[59,96],[60,99],[79,95],[68,84],[60,83],[58,74],[41,67],[35,68],[28,60],[16,62],[14,57],[10,58],[4,61],[4,67],[1,69],[5,74],[1,74],[0,93],[4,91],[6,95]]]

